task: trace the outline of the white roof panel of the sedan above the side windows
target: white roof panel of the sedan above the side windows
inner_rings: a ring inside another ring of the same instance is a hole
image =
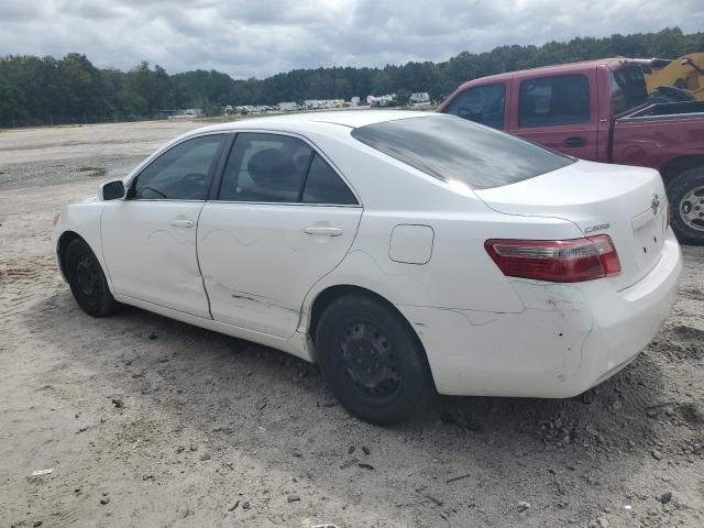
[[[270,116],[265,118],[242,119],[229,123],[216,124],[202,129],[194,130],[191,133],[202,133],[212,131],[228,131],[238,129],[266,129],[295,131],[299,127],[320,124],[339,125],[350,129],[358,129],[367,124],[394,121],[397,119],[424,118],[439,116],[435,112],[422,112],[411,110],[336,110],[328,112],[301,112],[282,116]]]

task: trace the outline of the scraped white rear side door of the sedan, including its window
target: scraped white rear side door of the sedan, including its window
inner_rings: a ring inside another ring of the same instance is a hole
[[[308,290],[348,253],[362,206],[302,138],[239,133],[198,223],[216,320],[287,338]]]

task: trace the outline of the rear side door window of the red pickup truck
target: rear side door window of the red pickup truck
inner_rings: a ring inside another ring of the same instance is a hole
[[[518,127],[588,123],[590,85],[584,75],[524,80],[518,90]]]

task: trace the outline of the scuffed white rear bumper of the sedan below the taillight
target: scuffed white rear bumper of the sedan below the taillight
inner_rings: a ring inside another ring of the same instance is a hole
[[[630,363],[660,330],[678,293],[680,246],[668,234],[656,267],[617,292],[608,280],[513,279],[524,310],[398,306],[417,331],[441,394],[561,398]]]

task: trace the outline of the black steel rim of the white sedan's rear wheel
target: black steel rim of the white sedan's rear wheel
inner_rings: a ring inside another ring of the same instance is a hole
[[[392,399],[400,391],[404,372],[392,341],[371,322],[351,324],[340,341],[342,365],[355,388],[366,397]]]

